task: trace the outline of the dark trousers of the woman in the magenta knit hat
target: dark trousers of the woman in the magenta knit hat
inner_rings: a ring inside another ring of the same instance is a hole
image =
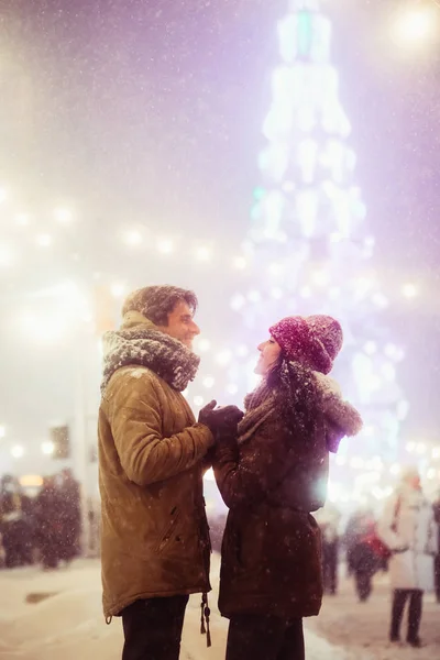
[[[226,660],[305,660],[302,619],[241,614],[231,618]]]

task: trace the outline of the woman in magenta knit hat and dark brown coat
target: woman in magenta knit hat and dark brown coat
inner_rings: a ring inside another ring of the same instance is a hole
[[[217,484],[230,508],[219,609],[227,660],[301,660],[302,617],[319,613],[321,540],[310,512],[326,499],[329,447],[362,425],[326,376],[342,345],[330,317],[289,317],[258,345],[261,385],[237,438],[219,438]]]

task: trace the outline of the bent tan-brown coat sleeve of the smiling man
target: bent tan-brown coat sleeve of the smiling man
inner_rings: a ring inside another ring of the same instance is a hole
[[[109,424],[122,469],[140,486],[185,472],[213,443],[209,428],[195,424],[166,438],[162,433],[161,402],[147,376],[124,383],[116,393]]]

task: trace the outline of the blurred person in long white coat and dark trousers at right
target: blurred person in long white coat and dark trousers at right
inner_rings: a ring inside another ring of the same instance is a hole
[[[438,530],[432,505],[425,497],[417,468],[403,471],[400,483],[389,497],[377,531],[389,548],[389,581],[393,590],[391,641],[400,640],[405,605],[409,602],[406,640],[420,647],[422,597],[433,591],[433,557]]]

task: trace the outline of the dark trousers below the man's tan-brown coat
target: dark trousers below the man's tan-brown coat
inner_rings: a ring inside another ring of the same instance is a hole
[[[178,660],[188,596],[145,598],[122,610],[122,660]]]

